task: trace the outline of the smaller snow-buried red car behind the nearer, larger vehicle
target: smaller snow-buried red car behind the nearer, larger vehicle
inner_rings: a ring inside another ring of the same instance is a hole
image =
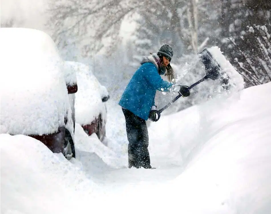
[[[105,102],[109,94],[89,66],[81,62],[66,61],[76,71],[78,92],[75,94],[75,121],[89,136],[96,133],[103,141],[106,135],[107,110]]]

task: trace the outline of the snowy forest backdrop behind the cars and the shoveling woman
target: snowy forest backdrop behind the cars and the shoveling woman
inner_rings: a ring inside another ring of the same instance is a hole
[[[271,80],[271,0],[20,2],[1,1],[1,27],[47,32],[65,60],[92,66],[116,102],[142,56],[156,52],[163,43],[173,47],[171,64],[179,84],[191,85],[203,77],[197,53],[211,46],[221,48],[242,74],[246,88]],[[15,13],[15,5],[23,12]],[[36,13],[29,11],[29,5]],[[198,104],[222,90],[219,83],[206,81],[169,111]],[[157,93],[158,105],[174,96]]]

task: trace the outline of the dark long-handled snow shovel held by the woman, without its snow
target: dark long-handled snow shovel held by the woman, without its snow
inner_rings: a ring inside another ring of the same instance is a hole
[[[205,65],[206,75],[201,80],[189,86],[188,88],[189,90],[208,78],[212,80],[217,80],[220,76],[221,67],[217,63],[217,61],[213,58],[212,54],[206,48],[203,51],[201,51],[198,55],[199,55],[199,58],[201,59],[201,62]],[[161,113],[163,110],[171,106],[171,104],[173,104],[173,102],[178,100],[181,96],[182,95],[179,93],[178,96],[176,96],[173,100],[171,100],[171,102],[169,102],[166,106],[158,110],[158,112]]]

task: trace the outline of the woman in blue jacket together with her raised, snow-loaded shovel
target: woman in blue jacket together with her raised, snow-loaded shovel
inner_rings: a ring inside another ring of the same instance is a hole
[[[214,59],[214,56],[219,59],[221,64]],[[141,61],[141,66],[132,76],[119,101],[119,105],[122,106],[122,111],[126,120],[126,133],[129,142],[129,168],[152,168],[148,151],[149,136],[146,120],[149,119],[153,122],[157,122],[163,110],[181,96],[189,96],[189,90],[191,88],[208,78],[212,80],[219,79],[222,84],[225,85],[225,88],[228,88],[231,86],[230,78],[237,73],[233,67],[234,72],[232,72],[232,69],[228,69],[230,71],[229,74],[227,69],[223,69],[225,61],[227,60],[218,47],[213,47],[209,50],[204,49],[199,53],[201,62],[205,65],[206,76],[192,84],[190,87],[176,85],[173,84],[173,82],[163,80],[160,76],[165,74],[166,70],[172,70],[170,66],[172,57],[173,49],[168,44],[162,45],[157,53],[144,57]],[[225,60],[223,61],[223,59]],[[240,74],[238,75],[240,76]],[[240,78],[242,80],[242,77]],[[175,91],[177,87],[180,87],[178,90],[179,95],[160,110],[156,110],[154,102],[156,90],[170,92]]]

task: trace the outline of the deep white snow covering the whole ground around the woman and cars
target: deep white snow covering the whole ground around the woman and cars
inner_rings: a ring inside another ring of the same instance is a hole
[[[270,91],[271,82],[152,122],[156,169],[126,168],[125,120],[113,99],[108,147],[76,124],[70,161],[33,138],[1,134],[1,213],[270,213]]]

